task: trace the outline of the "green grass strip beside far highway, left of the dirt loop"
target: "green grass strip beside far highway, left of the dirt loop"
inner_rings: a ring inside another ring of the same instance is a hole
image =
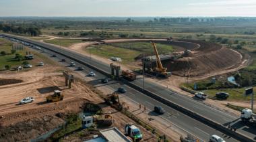
[[[83,40],[73,40],[73,39],[53,39],[53,40],[46,40],[44,42],[47,42],[49,44],[55,44],[57,46],[59,46],[61,44],[61,46],[64,47],[69,47],[72,44],[77,44],[77,43],[81,43],[84,42]]]

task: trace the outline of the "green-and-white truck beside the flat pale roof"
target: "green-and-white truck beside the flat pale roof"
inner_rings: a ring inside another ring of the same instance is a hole
[[[140,141],[142,139],[142,134],[139,128],[131,124],[125,125],[125,135],[131,137],[133,141]]]

